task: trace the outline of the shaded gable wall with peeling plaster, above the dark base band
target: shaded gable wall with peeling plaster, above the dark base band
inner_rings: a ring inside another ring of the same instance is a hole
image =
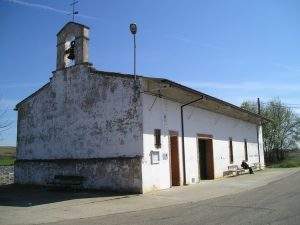
[[[17,159],[141,156],[141,104],[131,78],[87,65],[56,71],[19,107]]]

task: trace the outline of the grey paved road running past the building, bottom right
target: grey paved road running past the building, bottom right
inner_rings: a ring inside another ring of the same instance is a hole
[[[157,209],[67,220],[56,225],[299,225],[300,172],[235,195]]]

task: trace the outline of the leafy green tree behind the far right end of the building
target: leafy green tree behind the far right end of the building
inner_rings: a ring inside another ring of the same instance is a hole
[[[257,105],[245,101],[242,108],[257,113]],[[264,150],[288,150],[297,147],[300,139],[300,118],[279,99],[261,104],[261,115],[271,121],[263,123]]]

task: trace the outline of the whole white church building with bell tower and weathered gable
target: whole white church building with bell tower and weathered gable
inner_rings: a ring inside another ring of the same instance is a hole
[[[57,34],[50,81],[16,105],[15,181],[145,193],[264,167],[264,118],[164,78],[96,70],[89,28]],[[78,181],[77,180],[77,181]]]

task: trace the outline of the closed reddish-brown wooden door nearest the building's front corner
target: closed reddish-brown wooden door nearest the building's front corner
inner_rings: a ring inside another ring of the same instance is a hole
[[[179,155],[178,155],[178,136],[171,136],[171,179],[172,186],[180,185],[179,176]]]

